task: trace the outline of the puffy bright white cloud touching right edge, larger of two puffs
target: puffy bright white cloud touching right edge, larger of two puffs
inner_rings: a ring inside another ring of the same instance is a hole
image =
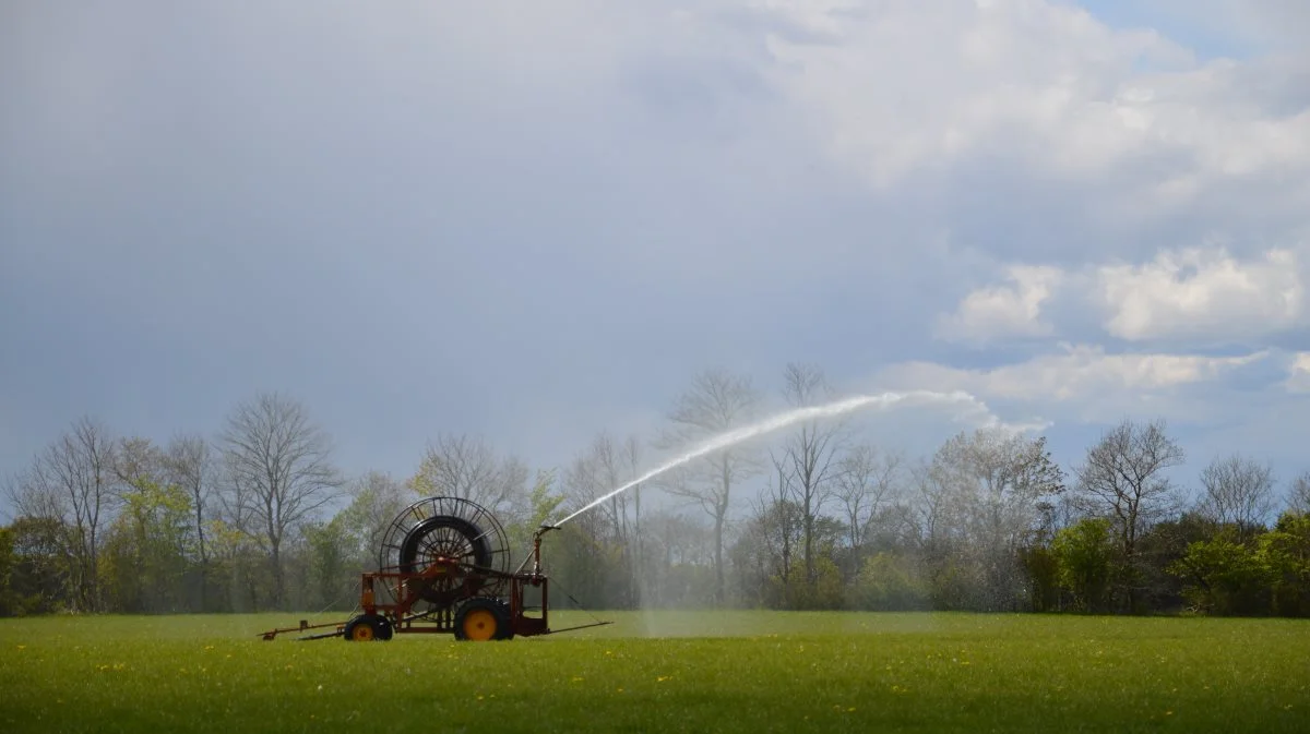
[[[1099,268],[1106,330],[1128,340],[1238,338],[1279,331],[1305,313],[1296,255],[1241,262],[1225,250],[1182,250],[1142,266]]]

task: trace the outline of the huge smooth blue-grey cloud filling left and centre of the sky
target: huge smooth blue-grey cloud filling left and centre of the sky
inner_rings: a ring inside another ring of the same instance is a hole
[[[438,430],[558,463],[658,423],[710,364],[858,386],[1035,353],[931,340],[988,267],[1296,221],[1237,198],[1276,183],[1235,182],[1125,226],[1098,207],[1186,161],[1052,181],[1022,136],[875,191],[824,154],[833,130],[766,44],[849,37],[785,14],[305,8],[0,22],[0,475],[83,412],[165,438],[265,389],[303,398],[352,471],[410,471]],[[884,72],[943,93],[913,67]]]

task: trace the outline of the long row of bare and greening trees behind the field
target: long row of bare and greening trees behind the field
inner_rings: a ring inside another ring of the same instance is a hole
[[[838,396],[816,366],[781,377],[791,407]],[[0,615],[350,610],[410,502],[476,501],[525,552],[542,522],[635,479],[648,454],[764,417],[768,396],[705,370],[656,436],[601,432],[533,470],[440,433],[402,478],[346,476],[280,394],[208,437],[117,436],[84,417],[7,481]],[[1280,488],[1231,454],[1176,484],[1184,463],[1162,420],[1111,427],[1069,467],[1044,437],[1000,428],[910,459],[815,420],[607,500],[546,536],[544,564],[587,608],[1310,615],[1310,472]]]

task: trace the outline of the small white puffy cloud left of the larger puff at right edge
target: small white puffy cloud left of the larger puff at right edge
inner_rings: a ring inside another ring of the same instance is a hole
[[[1053,267],[1011,266],[1013,285],[973,290],[955,313],[938,322],[937,334],[954,341],[982,343],[1005,336],[1047,336],[1052,326],[1041,319],[1041,304],[1060,284]]]

